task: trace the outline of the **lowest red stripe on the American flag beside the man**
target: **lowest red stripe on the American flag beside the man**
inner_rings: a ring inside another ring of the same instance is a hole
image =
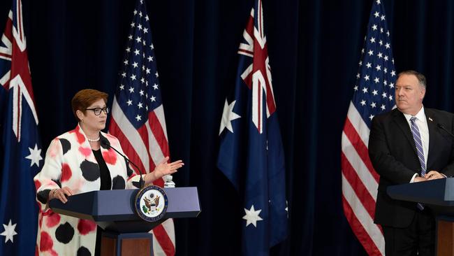
[[[346,201],[344,194],[342,194],[342,206],[344,206],[344,213],[347,220],[350,223],[350,227],[353,230],[353,233],[355,233],[356,237],[365,248],[367,254],[381,255],[379,248],[376,247],[376,244],[369,236],[369,233],[367,233],[366,229],[364,229],[363,225],[361,225],[361,222],[359,222],[358,218],[356,218],[356,215],[355,213],[353,213],[353,210],[350,207],[349,202]],[[381,230],[381,227],[380,226],[378,227]]]

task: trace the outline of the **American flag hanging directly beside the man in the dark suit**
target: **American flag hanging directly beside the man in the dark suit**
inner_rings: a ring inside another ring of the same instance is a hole
[[[353,233],[369,255],[384,255],[385,241],[374,224],[379,175],[370,162],[367,145],[374,115],[395,106],[393,51],[383,3],[374,1],[353,99],[342,131],[342,204]]]

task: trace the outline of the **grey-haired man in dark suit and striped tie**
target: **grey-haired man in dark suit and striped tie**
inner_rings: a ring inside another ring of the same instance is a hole
[[[428,207],[391,199],[386,188],[454,175],[454,115],[425,108],[425,90],[423,74],[400,73],[397,108],[372,120],[369,157],[380,175],[374,221],[383,228],[387,256],[434,255],[435,220]]]

